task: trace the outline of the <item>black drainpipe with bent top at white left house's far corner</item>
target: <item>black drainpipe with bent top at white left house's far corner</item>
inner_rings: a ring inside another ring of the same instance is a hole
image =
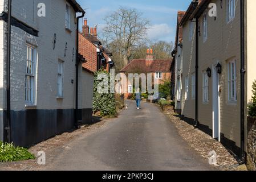
[[[75,122],[74,126],[76,129],[78,126],[78,70],[79,70],[79,19],[83,18],[85,13],[83,12],[81,16],[76,18],[76,109],[75,109]]]

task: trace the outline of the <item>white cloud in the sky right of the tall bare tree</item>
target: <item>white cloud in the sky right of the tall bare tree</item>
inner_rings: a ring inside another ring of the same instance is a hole
[[[166,38],[169,39],[172,34],[173,28],[166,23],[154,24],[148,30],[148,38],[151,40],[166,40]]]

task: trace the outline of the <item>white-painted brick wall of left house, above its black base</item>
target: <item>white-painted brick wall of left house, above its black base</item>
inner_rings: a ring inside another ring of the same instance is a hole
[[[37,16],[38,3],[45,3],[46,17]],[[2,1],[0,2],[1,9]],[[75,11],[71,7],[71,31],[65,28],[65,0],[13,0],[13,16],[39,31],[39,37],[32,36],[21,28],[12,26],[11,37],[11,109],[73,109],[75,98]],[[6,24],[6,23],[4,23]],[[3,47],[3,22],[0,22],[0,86],[5,76],[5,58],[1,53]],[[56,34],[55,49],[52,42]],[[64,57],[65,45],[68,45],[67,56]],[[36,107],[25,107],[25,71],[26,44],[36,47],[38,53],[36,77]],[[5,47],[6,52],[6,47]],[[63,99],[57,99],[58,59],[64,61]],[[5,109],[5,97],[0,91],[0,108]]]

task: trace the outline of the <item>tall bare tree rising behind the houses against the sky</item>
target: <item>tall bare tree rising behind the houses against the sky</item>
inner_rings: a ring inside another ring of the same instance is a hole
[[[141,40],[145,40],[149,21],[136,9],[120,7],[105,19],[103,34],[109,48],[121,59],[120,68],[129,63]],[[117,61],[117,60],[116,60]],[[118,64],[118,63],[117,63]]]

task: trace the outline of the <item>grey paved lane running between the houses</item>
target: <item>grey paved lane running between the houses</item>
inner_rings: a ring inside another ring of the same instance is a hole
[[[207,161],[178,135],[156,105],[143,102],[104,127],[68,144],[47,169],[58,170],[209,170]]]

